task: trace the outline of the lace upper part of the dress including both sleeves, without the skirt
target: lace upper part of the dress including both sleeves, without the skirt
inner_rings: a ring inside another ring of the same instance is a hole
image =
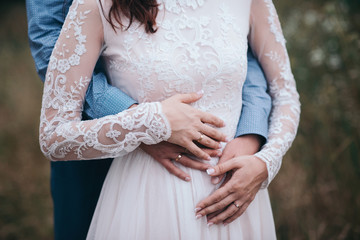
[[[167,140],[171,129],[159,101],[198,90],[204,96],[194,107],[222,118],[226,127],[221,130],[233,137],[249,39],[273,98],[269,141],[257,154],[266,162],[271,181],[299,120],[298,94],[272,2],[163,0],[155,34],[146,34],[136,22],[126,31],[113,31],[104,17],[110,3],[102,0],[102,11],[97,0],[74,0],[69,11],[44,87],[40,144],[46,156],[115,157],[141,142]],[[99,53],[111,83],[141,104],[114,116],[80,121]]]

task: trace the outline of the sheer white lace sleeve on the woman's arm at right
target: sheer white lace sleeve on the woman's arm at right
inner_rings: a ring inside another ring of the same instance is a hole
[[[271,0],[252,1],[249,42],[264,69],[273,104],[268,141],[256,154],[266,163],[268,179],[262,187],[267,187],[294,141],[300,116],[299,95],[280,22]]]

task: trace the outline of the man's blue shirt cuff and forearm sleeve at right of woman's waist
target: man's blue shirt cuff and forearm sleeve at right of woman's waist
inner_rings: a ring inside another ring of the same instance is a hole
[[[271,110],[271,97],[267,93],[265,75],[249,47],[248,71],[243,86],[243,104],[235,137],[257,134],[267,139],[268,118]]]

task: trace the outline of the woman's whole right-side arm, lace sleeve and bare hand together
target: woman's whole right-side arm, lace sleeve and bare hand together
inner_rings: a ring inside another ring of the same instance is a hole
[[[260,186],[267,187],[278,172],[282,157],[293,142],[299,124],[299,95],[279,19],[271,0],[252,1],[250,24],[251,48],[264,69],[273,104],[268,141],[255,155],[236,157],[208,169],[208,174],[213,177],[231,171],[231,178],[196,206],[198,211],[195,214],[208,216],[209,224],[228,224],[243,214]],[[245,169],[249,169],[249,163],[252,163],[250,169],[253,172],[260,169],[261,174],[246,175]],[[265,168],[265,164],[267,172],[263,173],[261,169]],[[246,181],[243,181],[244,176]],[[217,215],[216,212],[224,206],[227,209]]]

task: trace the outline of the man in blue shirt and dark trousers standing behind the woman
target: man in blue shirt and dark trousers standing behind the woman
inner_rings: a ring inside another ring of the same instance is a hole
[[[31,52],[38,74],[43,81],[52,49],[71,3],[72,0],[26,0]],[[243,108],[236,138],[224,149],[220,162],[240,155],[253,154],[266,141],[271,100],[266,93],[266,81],[261,68],[251,53],[248,57],[248,76],[243,88]],[[136,101],[108,84],[101,68],[101,61],[97,65],[84,103],[84,119],[117,114],[136,105]],[[183,180],[189,177],[172,162],[183,151],[180,147],[160,143],[151,147],[142,145],[142,148],[171,174]],[[85,239],[111,161],[107,159],[51,162],[55,239]],[[179,162],[194,169],[206,168],[206,165],[186,156],[183,156]],[[244,165],[242,171],[247,173],[244,176],[265,175],[266,178],[265,167],[254,171],[251,164],[249,162]],[[213,181],[216,182],[218,179]],[[248,186],[250,190],[255,192],[259,190],[259,184],[254,184],[245,177],[230,181],[243,181],[247,184],[244,186]]]

